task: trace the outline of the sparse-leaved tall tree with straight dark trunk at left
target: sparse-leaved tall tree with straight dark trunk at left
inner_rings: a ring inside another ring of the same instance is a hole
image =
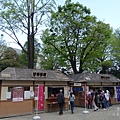
[[[1,0],[0,30],[10,36],[28,56],[28,67],[34,67],[34,38],[41,26],[47,24],[47,16],[54,8],[54,0]],[[45,16],[45,17],[44,17]],[[25,34],[28,51],[24,49],[17,33]]]

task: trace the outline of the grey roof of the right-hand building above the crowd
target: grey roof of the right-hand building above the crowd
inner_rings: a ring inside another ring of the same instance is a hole
[[[69,75],[74,82],[120,82],[120,79],[111,74],[80,73]]]

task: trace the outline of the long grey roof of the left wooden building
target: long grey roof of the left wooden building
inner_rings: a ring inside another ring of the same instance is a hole
[[[33,73],[45,73],[45,76],[34,76]],[[23,69],[8,67],[0,73],[0,80],[41,80],[72,81],[65,74],[55,70]]]

